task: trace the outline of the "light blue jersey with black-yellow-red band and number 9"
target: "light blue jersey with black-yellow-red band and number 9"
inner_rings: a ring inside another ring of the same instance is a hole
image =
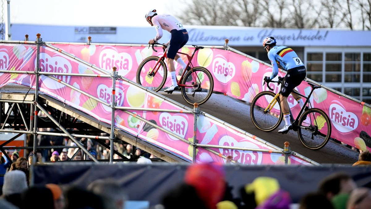
[[[293,72],[294,74],[306,73],[303,62],[300,60],[295,51],[287,46],[274,46],[269,50],[268,58],[272,63],[273,68],[272,75],[270,75],[271,80],[278,74],[278,64],[280,64],[281,67],[286,71],[289,71],[293,68],[298,69],[297,73]]]

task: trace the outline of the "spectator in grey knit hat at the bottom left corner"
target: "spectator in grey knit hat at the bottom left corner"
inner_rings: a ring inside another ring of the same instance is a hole
[[[4,176],[2,197],[15,206],[22,203],[21,193],[27,190],[26,174],[19,170],[10,171]]]

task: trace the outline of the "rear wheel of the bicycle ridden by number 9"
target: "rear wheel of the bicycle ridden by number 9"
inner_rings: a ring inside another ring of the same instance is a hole
[[[318,108],[306,110],[299,118],[298,136],[309,149],[321,149],[331,136],[331,122],[326,113]]]

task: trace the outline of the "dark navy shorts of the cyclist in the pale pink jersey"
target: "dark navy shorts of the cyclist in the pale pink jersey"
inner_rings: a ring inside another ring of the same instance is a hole
[[[170,43],[166,48],[167,58],[173,59],[177,54],[178,50],[182,48],[188,42],[188,32],[186,29],[176,30],[173,29],[170,31],[171,39]]]

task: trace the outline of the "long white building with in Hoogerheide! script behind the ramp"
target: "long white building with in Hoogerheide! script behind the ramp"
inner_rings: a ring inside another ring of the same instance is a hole
[[[334,29],[272,29],[236,26],[185,26],[189,32],[187,45],[224,45],[267,60],[262,41],[275,36],[278,45],[293,48],[306,64],[307,77],[325,86],[371,104],[371,31]],[[89,27],[12,25],[12,39],[23,40],[30,35],[43,41],[146,44],[155,37],[154,27]],[[167,42],[164,32],[160,42]]]

